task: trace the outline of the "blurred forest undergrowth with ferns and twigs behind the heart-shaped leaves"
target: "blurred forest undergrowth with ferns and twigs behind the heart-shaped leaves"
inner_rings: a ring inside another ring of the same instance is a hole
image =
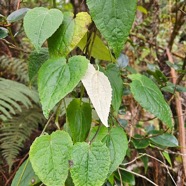
[[[19,8],[56,7],[75,14],[88,11],[84,1],[1,0],[0,1],[0,185],[11,185],[16,171],[28,157],[29,147],[45,123],[37,86],[29,81],[28,62],[33,51],[23,30],[22,20],[7,23],[6,17]],[[116,120],[129,139],[125,171],[115,173],[115,185],[185,185],[186,177],[186,1],[139,0],[136,18],[118,64],[124,83],[122,105]],[[4,28],[5,30],[3,30]],[[6,34],[7,37],[3,37]],[[46,44],[45,44],[46,45]],[[73,54],[82,54],[79,48]],[[43,51],[42,59],[47,59]],[[94,61],[94,58],[91,58]],[[102,66],[106,61],[101,61]],[[174,128],[169,131],[156,117],[146,112],[133,98],[128,86],[129,73],[144,74],[162,90],[170,105]],[[30,88],[32,87],[32,89]],[[78,97],[79,90],[72,93]],[[63,128],[63,109],[58,126]],[[55,114],[55,112],[54,112]],[[47,132],[57,129],[48,121]],[[153,136],[161,136],[154,143]],[[179,141],[173,147],[172,133]],[[149,139],[151,140],[149,142]],[[109,185],[109,183],[106,183]]]

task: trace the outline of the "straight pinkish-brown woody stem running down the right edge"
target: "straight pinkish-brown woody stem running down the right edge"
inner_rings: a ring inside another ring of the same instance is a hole
[[[167,49],[167,56],[168,56],[169,61],[171,63],[174,63],[171,52],[169,49]],[[176,85],[177,74],[176,74],[175,69],[173,69],[173,68],[171,68],[171,76],[172,76],[173,83]],[[186,132],[185,132],[184,119],[182,116],[183,110],[182,110],[179,92],[175,92],[175,102],[176,102],[176,112],[177,112],[177,116],[178,116],[179,143],[180,143],[180,148],[181,148],[180,150],[181,150],[181,153],[184,154],[184,156],[182,156],[182,160],[183,160],[184,174],[186,176],[186,156],[185,156],[186,155],[186,143],[185,143]]]

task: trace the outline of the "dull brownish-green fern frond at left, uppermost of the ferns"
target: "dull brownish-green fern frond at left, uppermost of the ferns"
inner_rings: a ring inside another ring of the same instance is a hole
[[[5,72],[6,76],[13,76],[17,81],[28,83],[28,65],[23,59],[12,58],[8,56],[0,57],[0,69]],[[1,72],[3,73],[3,72]]]

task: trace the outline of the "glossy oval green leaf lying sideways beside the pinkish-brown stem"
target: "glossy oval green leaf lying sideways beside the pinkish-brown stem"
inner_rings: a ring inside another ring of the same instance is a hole
[[[150,141],[164,147],[178,147],[178,140],[176,139],[176,137],[168,133],[152,137],[150,138]]]

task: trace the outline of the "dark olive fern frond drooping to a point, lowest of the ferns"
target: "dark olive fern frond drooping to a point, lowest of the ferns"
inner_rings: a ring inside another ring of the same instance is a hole
[[[0,127],[0,149],[2,156],[9,165],[9,170],[17,155],[24,147],[24,142],[29,139],[39,123],[44,122],[41,108],[34,106],[5,121]]]

